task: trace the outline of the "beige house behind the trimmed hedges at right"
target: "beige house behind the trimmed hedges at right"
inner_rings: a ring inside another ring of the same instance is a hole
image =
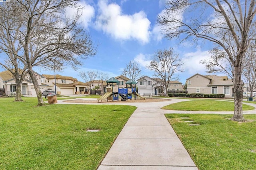
[[[225,94],[232,97],[234,86],[228,76],[195,74],[186,80],[188,93]]]

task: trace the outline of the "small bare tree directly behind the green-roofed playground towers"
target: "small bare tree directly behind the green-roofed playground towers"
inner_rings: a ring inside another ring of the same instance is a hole
[[[139,62],[134,60],[130,61],[128,64],[126,64],[126,68],[124,68],[122,74],[132,80],[137,80],[140,78],[142,75]]]

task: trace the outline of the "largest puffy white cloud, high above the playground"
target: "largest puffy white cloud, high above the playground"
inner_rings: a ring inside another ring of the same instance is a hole
[[[133,15],[122,14],[117,4],[98,3],[100,15],[96,19],[96,27],[110,34],[115,39],[136,39],[141,43],[148,43],[150,39],[150,21],[143,11]]]

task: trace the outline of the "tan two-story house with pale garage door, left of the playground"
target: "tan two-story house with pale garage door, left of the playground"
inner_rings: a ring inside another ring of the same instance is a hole
[[[55,90],[56,81],[56,91],[57,94],[69,95],[69,94],[84,94],[87,92],[87,84],[79,82],[76,78],[71,76],[61,76],[59,74],[48,75],[42,74],[44,76],[44,83],[48,85],[48,89]],[[56,79],[56,80],[55,80]]]

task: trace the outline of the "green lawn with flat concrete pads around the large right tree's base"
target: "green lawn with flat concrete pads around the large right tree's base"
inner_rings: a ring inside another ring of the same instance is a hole
[[[256,115],[244,115],[254,120],[244,123],[230,121],[232,115],[166,114],[166,117],[200,170],[256,169]],[[190,126],[185,120],[200,125]]]

